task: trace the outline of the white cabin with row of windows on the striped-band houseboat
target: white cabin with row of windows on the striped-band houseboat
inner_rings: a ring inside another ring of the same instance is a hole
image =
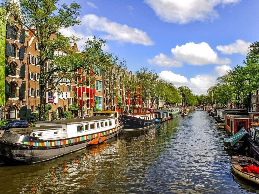
[[[117,121],[116,121],[117,120]],[[39,121],[32,131],[41,140],[54,140],[101,133],[119,126],[118,118],[93,116],[79,119]],[[38,128],[40,127],[40,128]],[[55,128],[56,127],[56,128]]]

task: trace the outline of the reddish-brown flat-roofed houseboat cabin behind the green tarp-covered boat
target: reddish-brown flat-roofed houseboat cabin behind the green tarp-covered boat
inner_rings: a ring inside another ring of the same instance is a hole
[[[236,134],[242,127],[248,131],[249,115],[225,114],[225,130],[229,135]]]

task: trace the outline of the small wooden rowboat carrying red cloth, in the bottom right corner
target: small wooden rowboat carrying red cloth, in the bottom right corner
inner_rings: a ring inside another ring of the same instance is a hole
[[[246,156],[232,156],[231,158],[232,170],[238,176],[252,181],[256,184],[259,184],[259,174],[253,172],[245,172],[242,169],[248,165],[254,165],[259,167],[259,161],[254,158],[246,157]]]

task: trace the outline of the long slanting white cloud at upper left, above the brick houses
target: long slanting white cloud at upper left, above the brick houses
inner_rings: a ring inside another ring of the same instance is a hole
[[[107,34],[101,36],[103,39],[115,40],[120,43],[130,42],[133,44],[143,44],[146,46],[154,44],[146,32],[126,24],[112,22],[105,17],[88,14],[81,18],[81,22],[81,25],[86,31],[106,32]]]

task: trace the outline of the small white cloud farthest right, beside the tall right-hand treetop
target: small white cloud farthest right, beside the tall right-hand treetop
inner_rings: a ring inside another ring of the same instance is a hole
[[[241,53],[242,55],[246,55],[248,53],[248,48],[250,46],[250,42],[245,42],[244,40],[236,40],[236,42],[225,45],[225,46],[217,46],[217,49],[221,51],[223,54],[232,54],[232,53]]]

